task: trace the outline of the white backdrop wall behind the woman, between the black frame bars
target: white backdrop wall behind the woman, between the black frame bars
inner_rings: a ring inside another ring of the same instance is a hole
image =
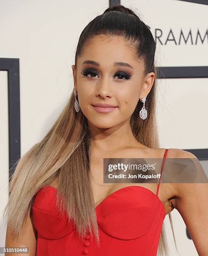
[[[157,36],[162,31],[162,44],[156,41],[157,66],[208,66],[208,36],[205,36],[208,5],[177,0],[131,0],[121,4],[137,12],[150,26],[153,36],[155,31]],[[0,1],[0,58],[20,59],[21,155],[43,138],[68,100],[73,88],[71,65],[79,35],[108,6],[107,0]],[[172,34],[168,36],[170,29]],[[181,29],[185,38],[191,30],[193,44],[190,38],[186,44],[183,38],[178,43]],[[197,30],[205,37],[203,43],[198,37],[195,44]],[[175,41],[170,41],[173,38]],[[206,78],[160,79],[157,117],[161,148],[208,148],[207,82]],[[9,150],[6,72],[0,72],[0,89],[0,246],[5,246],[2,211],[8,200]],[[202,111],[196,109],[198,103]],[[208,164],[205,161],[202,164],[207,170]],[[183,219],[177,210],[171,214],[179,253],[175,251],[166,216],[170,256],[198,255],[192,240],[186,236]]]

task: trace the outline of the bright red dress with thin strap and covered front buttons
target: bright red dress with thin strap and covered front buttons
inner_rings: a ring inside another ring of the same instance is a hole
[[[168,149],[165,149],[161,174]],[[160,175],[161,179],[161,175]],[[57,189],[45,186],[33,202],[33,222],[38,231],[36,256],[156,256],[165,207],[157,194],[128,186],[108,195],[95,208],[100,248],[89,233],[78,238],[67,214],[55,208]]]

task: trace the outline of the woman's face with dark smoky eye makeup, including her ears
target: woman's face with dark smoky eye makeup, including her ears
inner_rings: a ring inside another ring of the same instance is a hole
[[[138,100],[147,97],[154,73],[143,76],[143,62],[135,60],[135,54],[123,37],[95,36],[77,59],[73,68],[75,90],[80,109],[89,125],[112,128],[129,121]],[[94,107],[110,104],[115,108]]]

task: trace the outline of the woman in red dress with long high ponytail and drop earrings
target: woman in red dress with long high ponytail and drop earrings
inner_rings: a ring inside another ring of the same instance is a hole
[[[196,158],[158,148],[154,55],[150,30],[122,5],[84,28],[68,104],[11,180],[6,246],[30,256],[153,256],[159,238],[166,251],[163,220],[176,208],[208,255],[205,185],[103,183],[103,158]]]

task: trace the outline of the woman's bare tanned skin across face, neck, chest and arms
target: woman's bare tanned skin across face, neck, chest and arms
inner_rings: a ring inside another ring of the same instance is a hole
[[[86,60],[96,61],[100,66],[83,64]],[[123,66],[114,67],[114,62],[128,63],[133,69]],[[97,74],[83,76],[81,72],[86,68],[93,68]],[[122,37],[109,38],[105,35],[96,36],[90,44],[85,46],[83,55],[78,57],[77,69],[74,65],[72,69],[80,109],[87,117],[89,129],[93,133],[90,175],[95,207],[118,189],[132,185],[148,188],[156,195],[156,183],[103,183],[103,158],[163,158],[165,148],[148,148],[136,141],[129,123],[138,100],[141,97],[147,97],[150,92],[155,74],[152,72],[144,76],[143,61],[135,59],[135,53]],[[114,77],[118,71],[128,72],[132,79],[125,80],[122,75]],[[91,105],[97,102],[110,103],[118,108],[111,113],[98,113]],[[178,148],[169,148],[166,157],[196,158],[190,152]],[[57,181],[54,181],[51,186],[57,187]],[[208,228],[205,228],[208,227],[207,184],[160,183],[158,197],[163,202],[166,214],[174,208],[178,210],[189,230],[198,255],[207,256]],[[33,256],[36,239],[37,230],[34,228],[33,218],[28,215],[20,240],[15,242],[13,236],[7,233],[5,246],[29,247],[29,255]]]

